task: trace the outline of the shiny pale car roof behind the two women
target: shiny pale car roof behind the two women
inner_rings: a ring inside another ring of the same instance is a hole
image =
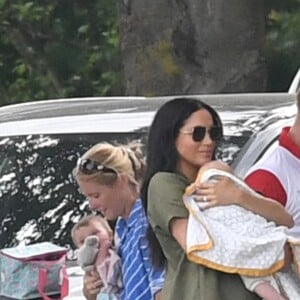
[[[0,107],[0,136],[130,132],[147,128],[168,97],[89,97],[55,99]],[[189,95],[212,105],[224,123],[245,120],[289,107],[295,95],[288,93]]]

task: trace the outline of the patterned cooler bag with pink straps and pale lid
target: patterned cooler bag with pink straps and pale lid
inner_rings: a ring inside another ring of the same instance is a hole
[[[67,296],[66,252],[66,248],[48,242],[2,249],[0,296],[44,300]]]

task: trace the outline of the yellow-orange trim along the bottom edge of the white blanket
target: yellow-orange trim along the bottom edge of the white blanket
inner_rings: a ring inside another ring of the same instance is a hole
[[[236,273],[244,276],[253,276],[253,277],[260,277],[260,276],[268,276],[277,271],[279,271],[283,265],[284,260],[279,260],[278,262],[274,263],[272,267],[268,269],[250,269],[250,268],[237,268],[237,267],[229,267],[224,266],[213,261],[207,260],[205,258],[201,258],[191,252],[187,253],[187,257],[191,262],[203,265],[210,269],[222,271],[225,273]]]

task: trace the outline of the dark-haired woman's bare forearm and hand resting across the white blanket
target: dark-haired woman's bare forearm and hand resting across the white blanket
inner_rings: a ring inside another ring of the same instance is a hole
[[[250,193],[238,187],[229,178],[220,178],[214,183],[202,183],[197,186],[198,197],[207,197],[210,208],[218,205],[237,204],[259,214],[277,225],[292,227],[294,221],[287,210],[277,201],[263,197],[258,193]]]

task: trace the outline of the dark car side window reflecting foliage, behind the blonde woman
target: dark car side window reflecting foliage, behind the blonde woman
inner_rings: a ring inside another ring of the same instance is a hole
[[[88,212],[72,176],[78,157],[99,141],[143,138],[133,132],[0,139],[0,248],[44,240],[71,244],[73,222]]]

